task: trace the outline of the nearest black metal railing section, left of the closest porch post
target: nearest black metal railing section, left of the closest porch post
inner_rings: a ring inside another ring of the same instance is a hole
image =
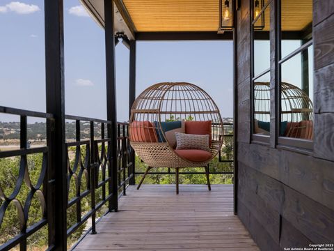
[[[27,149],[27,116],[31,116],[38,119],[46,119],[47,124],[52,123],[54,120],[52,114],[46,114],[42,112],[31,112],[22,109],[14,109],[10,107],[0,107],[0,113],[18,115],[20,118],[20,130],[19,130],[19,142],[20,146],[17,150],[12,151],[0,151],[0,159],[3,158],[19,158],[18,176],[15,182],[15,188],[10,195],[5,194],[4,187],[0,184],[0,229],[3,223],[3,218],[6,215],[6,211],[9,210],[11,204],[15,205],[17,209],[17,218],[19,220],[19,233],[10,238],[0,246],[0,250],[10,250],[19,245],[20,250],[26,250],[26,241],[29,236],[40,230],[42,227],[48,224],[47,219],[47,201],[49,200],[51,193],[47,188],[53,184],[52,180],[47,178],[47,172],[49,169],[48,153],[49,148],[47,146],[37,147],[33,149]],[[31,175],[29,174],[29,165],[27,158],[33,154],[42,154],[42,162],[40,167],[40,174],[38,182],[33,184],[31,182]],[[9,177],[6,177],[9,178]],[[22,186],[28,187],[28,193],[24,199],[18,199]],[[42,217],[38,222],[33,225],[29,225],[29,210],[31,208],[31,201],[34,195],[38,196],[40,200],[40,207],[42,211]],[[13,224],[14,225],[14,224]],[[0,234],[2,236],[2,234]]]

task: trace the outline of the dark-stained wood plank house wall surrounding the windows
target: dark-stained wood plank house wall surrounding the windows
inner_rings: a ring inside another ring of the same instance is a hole
[[[271,8],[273,10],[273,8]],[[262,250],[334,241],[334,1],[314,0],[312,154],[250,143],[250,0],[237,12],[238,215]]]

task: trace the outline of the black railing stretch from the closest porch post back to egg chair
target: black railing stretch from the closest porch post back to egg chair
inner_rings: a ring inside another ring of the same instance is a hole
[[[109,210],[106,208],[102,211],[108,201],[111,200],[112,193],[112,156],[111,156],[111,138],[105,137],[105,128],[110,125],[110,121],[101,119],[91,119],[79,116],[65,116],[67,120],[75,120],[76,124],[76,139],[75,142],[67,142],[67,197],[70,194],[71,178],[74,178],[76,189],[75,196],[68,198],[67,210],[76,204],[77,222],[72,224],[67,229],[67,237],[75,230],[83,225],[89,218],[91,218],[92,234],[96,234],[96,219],[97,213],[104,215]],[[90,123],[90,138],[81,140],[81,124]],[[100,131],[100,137],[95,136],[95,132]],[[126,188],[129,179],[134,176],[132,173],[132,161],[129,158],[130,147],[127,137],[127,124],[117,123],[117,175],[118,175],[118,197],[126,195]],[[71,147],[75,147],[75,158],[70,161],[69,151]],[[81,160],[82,152],[85,152],[84,162]],[[86,181],[83,180],[84,175]],[[86,185],[85,189],[81,191],[81,183]],[[81,203],[83,199],[90,197],[90,210],[88,212],[81,211]],[[82,216],[84,213],[84,216]]]

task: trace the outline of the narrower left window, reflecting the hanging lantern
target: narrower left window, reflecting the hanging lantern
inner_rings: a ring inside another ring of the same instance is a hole
[[[254,0],[252,16],[253,139],[269,142],[270,1]],[[259,137],[257,137],[259,136]]]

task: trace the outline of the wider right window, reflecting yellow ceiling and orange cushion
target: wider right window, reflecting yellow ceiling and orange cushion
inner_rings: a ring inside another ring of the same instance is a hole
[[[279,10],[278,143],[309,148],[313,139],[312,0],[281,0]]]

